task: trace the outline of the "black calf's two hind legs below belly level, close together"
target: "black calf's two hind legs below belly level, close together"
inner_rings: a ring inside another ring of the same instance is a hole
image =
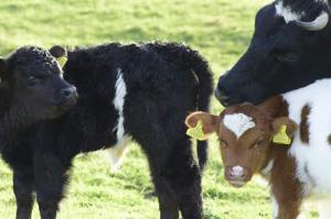
[[[153,150],[157,147],[154,145],[145,151],[159,198],[161,219],[177,219],[179,210],[183,219],[202,219],[201,175],[190,141],[180,141],[162,152]]]

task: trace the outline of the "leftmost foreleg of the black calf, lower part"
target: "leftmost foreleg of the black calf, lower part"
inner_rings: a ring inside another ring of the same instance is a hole
[[[33,172],[13,169],[13,191],[17,199],[17,219],[30,219],[33,208]]]

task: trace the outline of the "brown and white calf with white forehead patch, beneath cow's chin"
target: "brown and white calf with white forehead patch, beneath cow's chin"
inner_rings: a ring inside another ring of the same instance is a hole
[[[228,107],[221,116],[193,112],[185,122],[192,128],[202,121],[206,136],[218,135],[229,184],[244,186],[256,173],[269,180],[273,218],[297,218],[302,201],[314,197],[320,200],[320,218],[330,219],[330,88],[331,79],[318,80],[259,106]],[[292,138],[291,145],[273,140],[282,125]]]

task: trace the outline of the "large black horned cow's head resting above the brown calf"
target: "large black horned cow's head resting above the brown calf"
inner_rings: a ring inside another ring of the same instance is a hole
[[[220,77],[224,105],[266,98],[331,77],[328,0],[278,0],[260,9],[247,52]]]

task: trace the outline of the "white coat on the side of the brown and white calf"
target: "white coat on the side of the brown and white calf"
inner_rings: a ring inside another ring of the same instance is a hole
[[[310,107],[308,116],[309,143],[300,140],[300,132],[295,133],[289,154],[297,161],[297,177],[303,184],[306,196],[331,195],[331,79],[316,83],[282,95],[288,102],[289,118],[297,124],[301,122],[301,110]]]

